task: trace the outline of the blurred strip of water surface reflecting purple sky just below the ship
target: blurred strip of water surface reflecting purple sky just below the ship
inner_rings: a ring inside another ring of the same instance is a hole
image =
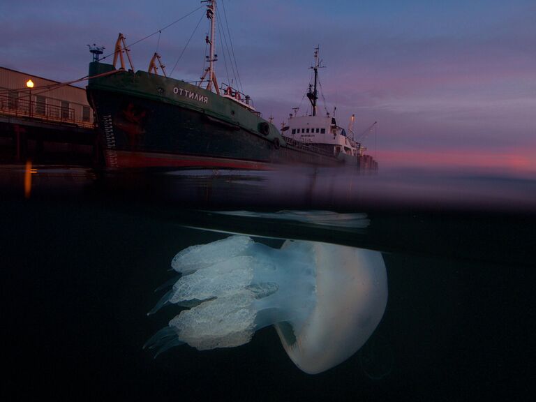
[[[0,166],[0,189],[24,191],[24,165]],[[370,208],[536,210],[536,175],[459,170],[385,170],[359,174],[336,168],[237,170],[108,170],[31,166],[31,186],[93,190],[106,197],[170,201],[210,209]],[[27,190],[26,190],[27,191]],[[318,218],[318,217],[317,217]],[[333,218],[333,216],[328,216]]]

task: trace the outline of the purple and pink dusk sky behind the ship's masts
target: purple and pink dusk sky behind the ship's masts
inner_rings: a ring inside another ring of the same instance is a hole
[[[119,32],[134,43],[200,6],[198,0],[50,0],[46,7],[3,0],[0,66],[75,80],[87,75],[88,44],[104,45],[109,54]],[[203,15],[201,7],[133,45],[135,69],[147,70],[158,51],[170,73],[184,52],[172,77],[198,79],[209,24]],[[304,94],[319,46],[326,67],[320,112],[336,107],[345,128],[354,113],[357,135],[378,121],[362,140],[380,165],[536,172],[535,0],[220,0],[218,15],[219,29],[230,32],[241,88],[276,126],[292,107],[307,113]],[[221,31],[216,37],[219,81],[236,82],[232,52]]]

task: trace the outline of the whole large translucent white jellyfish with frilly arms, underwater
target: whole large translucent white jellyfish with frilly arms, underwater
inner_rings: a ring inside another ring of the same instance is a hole
[[[181,276],[151,313],[186,308],[147,341],[158,353],[239,346],[274,325],[292,362],[321,373],[364,345],[387,305],[382,255],[361,248],[299,240],[271,248],[235,235],[184,249],[172,268]]]

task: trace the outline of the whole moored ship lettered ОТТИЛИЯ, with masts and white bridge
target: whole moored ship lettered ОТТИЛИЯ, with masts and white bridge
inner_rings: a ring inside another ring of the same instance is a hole
[[[270,170],[279,165],[345,164],[363,170],[377,168],[332,117],[317,116],[316,81],[308,94],[313,114],[291,117],[281,131],[262,118],[249,96],[230,84],[218,85],[214,69],[216,0],[204,3],[210,22],[205,38],[209,54],[199,82],[166,76],[157,53],[148,71],[134,71],[122,34],[113,64],[97,57],[89,65],[87,96],[96,114],[99,144],[108,168]],[[318,61],[318,50],[315,57]],[[315,64],[315,77],[318,67]],[[305,136],[311,133],[314,137]]]

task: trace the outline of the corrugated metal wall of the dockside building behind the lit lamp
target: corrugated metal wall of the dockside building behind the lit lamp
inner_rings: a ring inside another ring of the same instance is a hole
[[[2,93],[7,89],[17,89],[20,98],[28,99],[29,89],[26,87],[26,82],[28,80],[34,82],[34,88],[31,89],[32,101],[36,101],[37,95],[45,96],[47,98],[47,105],[61,107],[61,101],[67,101],[69,107],[75,111],[75,120],[82,121],[83,108],[84,106],[89,107],[85,89],[73,87],[72,85],[65,85],[64,87],[52,89],[51,91],[43,91],[43,89],[39,88],[50,84],[57,84],[58,82],[0,67],[0,91]],[[93,111],[91,108],[89,110],[89,121],[93,121]]]

